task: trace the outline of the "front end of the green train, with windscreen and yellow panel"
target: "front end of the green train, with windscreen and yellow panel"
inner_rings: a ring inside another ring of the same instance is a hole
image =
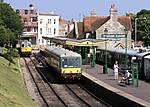
[[[81,56],[61,58],[61,75],[65,80],[80,80],[82,74],[81,68]]]

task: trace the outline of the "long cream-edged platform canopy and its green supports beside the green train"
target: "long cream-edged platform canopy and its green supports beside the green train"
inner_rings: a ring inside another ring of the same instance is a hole
[[[63,37],[43,37],[47,40],[47,44],[64,47],[81,54],[83,64],[91,64],[95,66],[96,48],[104,44],[104,40],[97,39],[70,39]]]

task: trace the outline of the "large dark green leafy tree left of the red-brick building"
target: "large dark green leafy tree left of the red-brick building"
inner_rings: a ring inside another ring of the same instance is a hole
[[[20,17],[9,4],[0,3],[0,45],[14,45],[21,33]]]

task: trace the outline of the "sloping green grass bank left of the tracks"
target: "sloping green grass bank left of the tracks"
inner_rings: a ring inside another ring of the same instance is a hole
[[[16,64],[0,57],[0,107],[35,107],[27,94],[22,75]]]

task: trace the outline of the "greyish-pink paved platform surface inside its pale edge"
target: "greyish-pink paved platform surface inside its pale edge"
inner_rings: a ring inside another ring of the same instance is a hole
[[[97,64],[94,68],[90,65],[83,65],[83,72],[88,73],[89,75],[114,88],[150,103],[150,83],[139,80],[138,87],[136,86],[136,80],[134,80],[134,85],[119,83],[118,81],[121,80],[121,76],[119,76],[118,80],[115,80],[112,69],[108,69],[108,74],[103,74],[103,66]]]

